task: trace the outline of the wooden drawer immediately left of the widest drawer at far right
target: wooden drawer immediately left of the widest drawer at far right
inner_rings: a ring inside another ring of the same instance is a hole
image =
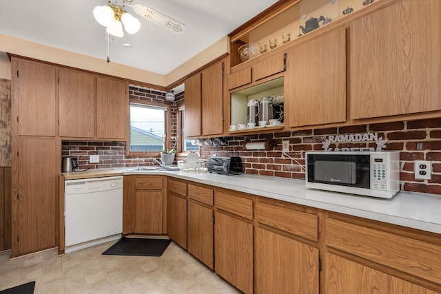
[[[318,217],[314,214],[259,202],[256,219],[261,224],[318,241]]]

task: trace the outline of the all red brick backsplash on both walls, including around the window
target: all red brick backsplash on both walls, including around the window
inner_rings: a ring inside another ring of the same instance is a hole
[[[130,98],[169,103],[165,93],[130,87]],[[172,105],[172,136],[176,137],[176,112],[183,103],[184,93],[176,95]],[[387,140],[386,150],[400,151],[401,171],[400,189],[441,195],[441,118],[354,125],[348,127],[329,127],[325,129],[305,129],[292,132],[256,134],[250,136],[227,136],[227,146],[201,147],[201,159],[210,156],[240,156],[246,174],[277,176],[283,178],[305,179],[305,152],[322,150],[322,141],[329,135],[377,132]],[[277,147],[271,151],[245,150],[245,138],[255,142],[272,138]],[[282,141],[289,140],[288,158],[282,153]],[[418,149],[420,143],[421,149]],[[376,147],[375,143],[337,143],[331,148]],[[89,156],[98,154],[99,164],[90,164]],[[79,168],[137,167],[150,165],[152,158],[128,158],[125,156],[125,142],[87,142],[63,141],[62,155],[79,159]],[[181,159],[181,158],[176,158]],[[413,175],[414,160],[431,160],[431,180],[416,180]]]

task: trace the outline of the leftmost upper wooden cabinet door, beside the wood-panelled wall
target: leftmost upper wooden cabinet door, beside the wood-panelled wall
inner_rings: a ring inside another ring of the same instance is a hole
[[[57,136],[57,68],[18,61],[18,135]]]

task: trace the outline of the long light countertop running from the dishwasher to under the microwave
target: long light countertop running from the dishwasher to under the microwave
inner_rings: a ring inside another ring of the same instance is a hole
[[[380,199],[307,189],[304,180],[249,174],[223,176],[206,171],[196,173],[194,171],[133,171],[133,169],[90,169],[89,171],[63,173],[63,176],[66,180],[71,180],[135,174],[166,175],[441,234],[440,195],[401,191],[391,199]]]

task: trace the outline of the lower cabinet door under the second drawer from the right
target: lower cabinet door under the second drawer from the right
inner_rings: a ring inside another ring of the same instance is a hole
[[[256,293],[318,293],[318,249],[257,228],[254,250]]]

